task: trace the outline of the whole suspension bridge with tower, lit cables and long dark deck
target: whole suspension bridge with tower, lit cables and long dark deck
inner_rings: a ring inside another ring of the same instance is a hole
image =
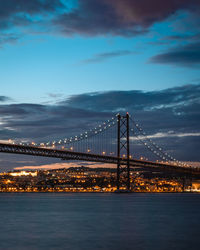
[[[135,141],[140,142],[140,146],[143,145],[157,160],[138,159]],[[200,169],[192,168],[165,152],[128,113],[117,114],[92,129],[64,139],[37,143],[10,139],[8,143],[0,143],[0,152],[116,164],[118,189],[122,174],[126,177],[127,190],[130,189],[131,168],[200,177]]]

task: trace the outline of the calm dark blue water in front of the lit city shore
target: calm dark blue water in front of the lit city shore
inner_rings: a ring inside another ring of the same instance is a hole
[[[0,194],[0,249],[200,249],[198,194]]]

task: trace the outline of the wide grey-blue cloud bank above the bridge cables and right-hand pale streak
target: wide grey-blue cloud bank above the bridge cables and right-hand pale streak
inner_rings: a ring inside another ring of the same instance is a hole
[[[199,128],[200,85],[161,91],[108,91],[74,95],[54,105],[1,104],[0,139],[11,137],[48,140],[77,134],[109,119],[117,112],[130,112],[150,131]],[[160,117],[159,122],[154,120]],[[184,126],[182,126],[184,123]],[[183,131],[182,131],[183,132]]]

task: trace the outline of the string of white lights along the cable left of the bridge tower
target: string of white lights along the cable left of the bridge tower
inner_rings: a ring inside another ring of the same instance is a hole
[[[116,115],[117,116],[117,115]],[[64,138],[64,139],[59,139],[59,140],[54,140],[54,141],[48,141],[48,142],[40,142],[40,143],[36,143],[36,142],[19,142],[17,144],[22,145],[22,146],[39,146],[39,147],[55,147],[57,145],[69,145],[78,141],[82,141],[85,139],[89,139],[95,135],[101,134],[104,131],[106,131],[107,129],[113,127],[117,120],[116,120],[116,116],[112,117],[109,120],[106,120],[105,122],[103,122],[100,125],[97,125],[95,128],[93,129],[89,129],[79,135],[75,135],[75,136],[71,136],[69,138]],[[13,142],[13,144],[15,144],[15,142]]]

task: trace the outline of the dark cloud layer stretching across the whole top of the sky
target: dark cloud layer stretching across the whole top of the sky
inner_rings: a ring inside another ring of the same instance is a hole
[[[78,0],[72,4],[62,0],[0,0],[0,43],[16,41],[24,33],[47,31],[66,36],[130,37],[147,32],[154,23],[181,10],[190,13],[187,22],[194,23],[200,6],[199,0]],[[189,30],[188,23],[181,25]],[[183,29],[180,23],[176,25]],[[7,33],[13,28],[16,34],[9,37]]]

